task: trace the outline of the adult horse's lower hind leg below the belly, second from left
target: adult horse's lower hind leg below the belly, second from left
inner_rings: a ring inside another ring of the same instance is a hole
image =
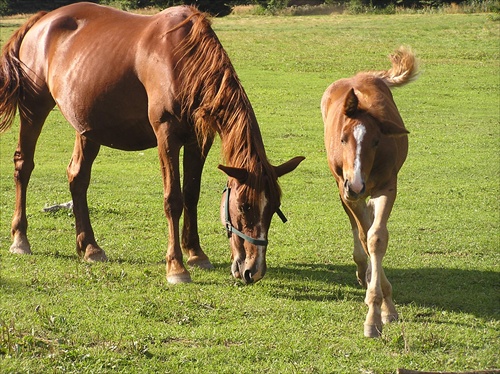
[[[106,254],[95,241],[87,204],[91,168],[99,149],[99,144],[77,133],[73,156],[67,168],[76,223],[76,251],[89,262],[107,260]]]

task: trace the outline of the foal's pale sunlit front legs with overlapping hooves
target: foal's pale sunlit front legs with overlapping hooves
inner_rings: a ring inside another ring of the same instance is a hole
[[[382,261],[387,251],[389,232],[387,221],[396,198],[396,189],[387,194],[372,197],[369,207],[373,211],[373,224],[368,230],[367,248],[370,255],[371,278],[366,290],[365,303],[368,313],[365,320],[365,336],[378,337],[382,324],[398,319],[392,301],[392,286],[385,276]]]

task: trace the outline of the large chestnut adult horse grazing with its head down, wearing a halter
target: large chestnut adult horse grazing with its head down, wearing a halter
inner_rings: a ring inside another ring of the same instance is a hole
[[[126,151],[157,146],[169,226],[167,280],[191,280],[181,247],[188,265],[212,267],[200,247],[197,204],[205,157],[218,133],[229,165],[219,167],[233,191],[229,203],[221,204],[228,211],[225,224],[230,233],[256,238],[231,236],[233,275],[245,283],[264,276],[268,229],[280,205],[277,178],[303,157],[278,167],[269,163],[252,106],[204,14],[173,7],[143,16],[77,3],[34,15],[10,38],[0,60],[0,131],[12,124],[19,108],[13,253],[31,253],[26,189],[38,136],[55,105],[76,130],[67,174],[81,257],[106,260],[87,204],[100,146]]]

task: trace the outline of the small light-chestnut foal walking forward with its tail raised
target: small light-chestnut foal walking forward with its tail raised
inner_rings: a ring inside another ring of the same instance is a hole
[[[398,318],[382,259],[397,175],[408,153],[408,131],[390,88],[416,78],[418,66],[414,54],[403,47],[391,61],[390,70],[361,72],[332,83],[321,99],[328,164],[351,223],[357,278],[367,288],[368,337],[379,336],[382,323]]]

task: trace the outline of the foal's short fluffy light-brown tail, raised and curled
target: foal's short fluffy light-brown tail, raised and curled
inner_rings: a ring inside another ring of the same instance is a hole
[[[389,87],[404,86],[417,79],[419,74],[418,59],[409,47],[401,46],[389,55],[392,67],[385,71],[370,72],[381,78]]]

